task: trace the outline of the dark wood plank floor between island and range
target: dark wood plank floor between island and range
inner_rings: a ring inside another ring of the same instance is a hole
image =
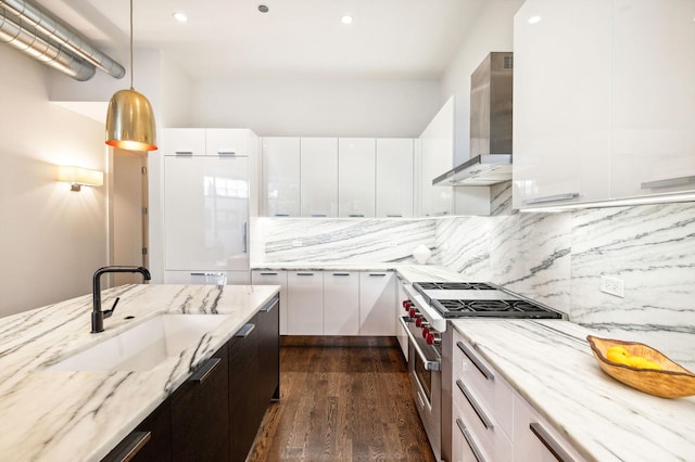
[[[392,338],[283,337],[249,461],[434,461]]]

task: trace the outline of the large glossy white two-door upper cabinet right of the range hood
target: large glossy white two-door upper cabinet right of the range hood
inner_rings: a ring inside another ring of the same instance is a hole
[[[695,191],[694,18],[693,0],[519,9],[515,208]]]

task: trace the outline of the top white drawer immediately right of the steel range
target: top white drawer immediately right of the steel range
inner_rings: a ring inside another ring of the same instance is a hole
[[[454,332],[452,393],[460,395],[459,380],[478,399],[480,405],[495,416],[497,424],[511,435],[511,386],[485,361],[458,332]]]

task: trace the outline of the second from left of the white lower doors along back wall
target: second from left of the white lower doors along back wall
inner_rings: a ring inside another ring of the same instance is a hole
[[[324,274],[289,271],[287,274],[287,333],[324,334]]]

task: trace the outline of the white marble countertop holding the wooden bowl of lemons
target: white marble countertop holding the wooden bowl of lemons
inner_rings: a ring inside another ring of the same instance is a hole
[[[568,321],[453,324],[587,460],[695,460],[695,397],[658,398],[615,381],[591,354],[591,331]]]

